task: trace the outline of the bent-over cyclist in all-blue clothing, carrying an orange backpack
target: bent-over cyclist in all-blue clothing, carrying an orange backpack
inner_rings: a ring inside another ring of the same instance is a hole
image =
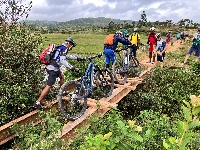
[[[115,57],[115,50],[117,48],[118,43],[122,43],[123,45],[131,45],[131,42],[128,39],[125,39],[122,37],[122,32],[117,31],[114,34],[114,39],[113,39],[113,44],[104,44],[104,55],[106,57],[105,63],[106,63],[106,68],[109,68],[110,65],[110,60],[112,63],[115,62],[116,57]]]

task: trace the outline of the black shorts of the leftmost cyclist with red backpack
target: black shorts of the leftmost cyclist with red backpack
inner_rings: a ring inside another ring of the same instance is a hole
[[[52,86],[56,82],[56,78],[58,78],[61,75],[61,71],[54,71],[54,70],[47,70],[47,73],[49,74],[47,85]]]

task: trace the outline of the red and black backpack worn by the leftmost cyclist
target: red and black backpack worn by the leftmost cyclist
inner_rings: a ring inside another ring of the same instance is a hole
[[[49,44],[49,46],[40,54],[40,61],[45,65],[49,65],[54,58],[57,47],[56,44]]]

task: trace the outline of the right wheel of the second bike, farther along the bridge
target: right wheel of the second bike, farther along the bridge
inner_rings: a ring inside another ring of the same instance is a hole
[[[142,72],[142,68],[140,66],[140,62],[135,57],[131,57],[129,61],[129,76],[131,77],[139,77]]]

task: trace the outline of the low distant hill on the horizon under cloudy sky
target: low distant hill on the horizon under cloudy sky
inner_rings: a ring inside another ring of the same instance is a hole
[[[110,22],[114,22],[115,24],[124,24],[127,22],[128,24],[132,24],[132,20],[120,20],[120,19],[111,19],[105,17],[98,17],[98,18],[79,18],[75,20],[70,20],[66,22],[57,22],[57,21],[31,21],[26,20],[25,22],[29,25],[36,25],[36,26],[58,26],[63,25],[66,27],[87,27],[87,26],[107,26]]]

